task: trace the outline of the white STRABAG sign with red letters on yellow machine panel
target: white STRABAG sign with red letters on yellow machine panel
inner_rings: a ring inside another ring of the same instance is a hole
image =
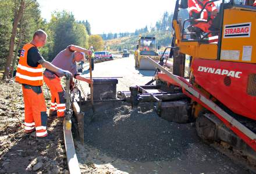
[[[247,38],[251,34],[251,22],[224,26],[223,38]]]

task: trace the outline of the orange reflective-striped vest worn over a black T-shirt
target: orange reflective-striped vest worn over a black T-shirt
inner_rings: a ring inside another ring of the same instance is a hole
[[[38,64],[37,67],[31,67],[27,64],[27,52],[30,48],[34,47],[33,44],[26,44],[20,53],[20,60],[17,66],[17,73],[15,81],[20,84],[27,84],[32,86],[42,86],[42,66]]]

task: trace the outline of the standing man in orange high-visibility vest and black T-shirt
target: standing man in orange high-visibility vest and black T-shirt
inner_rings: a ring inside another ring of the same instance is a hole
[[[31,133],[35,131],[35,135],[38,139],[48,135],[47,107],[41,88],[43,84],[42,67],[61,75],[71,76],[69,71],[55,67],[44,60],[40,55],[37,48],[44,46],[46,41],[47,34],[45,31],[35,31],[33,40],[25,44],[21,50],[15,78],[16,82],[22,84],[25,109],[25,132]]]

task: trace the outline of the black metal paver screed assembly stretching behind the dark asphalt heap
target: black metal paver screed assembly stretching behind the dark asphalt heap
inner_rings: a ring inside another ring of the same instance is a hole
[[[119,91],[116,96],[115,78],[94,79],[93,104],[90,96],[87,100],[73,102],[74,115],[73,132],[80,142],[84,142],[84,126],[92,122],[115,118],[113,114],[123,117],[123,107],[129,108],[130,115],[140,115],[149,110],[168,121],[185,123],[190,121],[187,114],[187,97],[176,89],[166,90],[161,85],[130,86],[130,91]],[[179,100],[179,102],[176,102]],[[151,113],[153,114],[153,113]],[[149,114],[150,115],[150,114]],[[177,119],[176,115],[183,115]]]

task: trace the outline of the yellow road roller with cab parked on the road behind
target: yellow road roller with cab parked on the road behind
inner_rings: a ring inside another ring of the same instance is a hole
[[[155,67],[147,60],[147,56],[156,62],[159,55],[155,47],[155,37],[139,37],[137,49],[134,52],[135,68],[138,70],[155,70]]]

